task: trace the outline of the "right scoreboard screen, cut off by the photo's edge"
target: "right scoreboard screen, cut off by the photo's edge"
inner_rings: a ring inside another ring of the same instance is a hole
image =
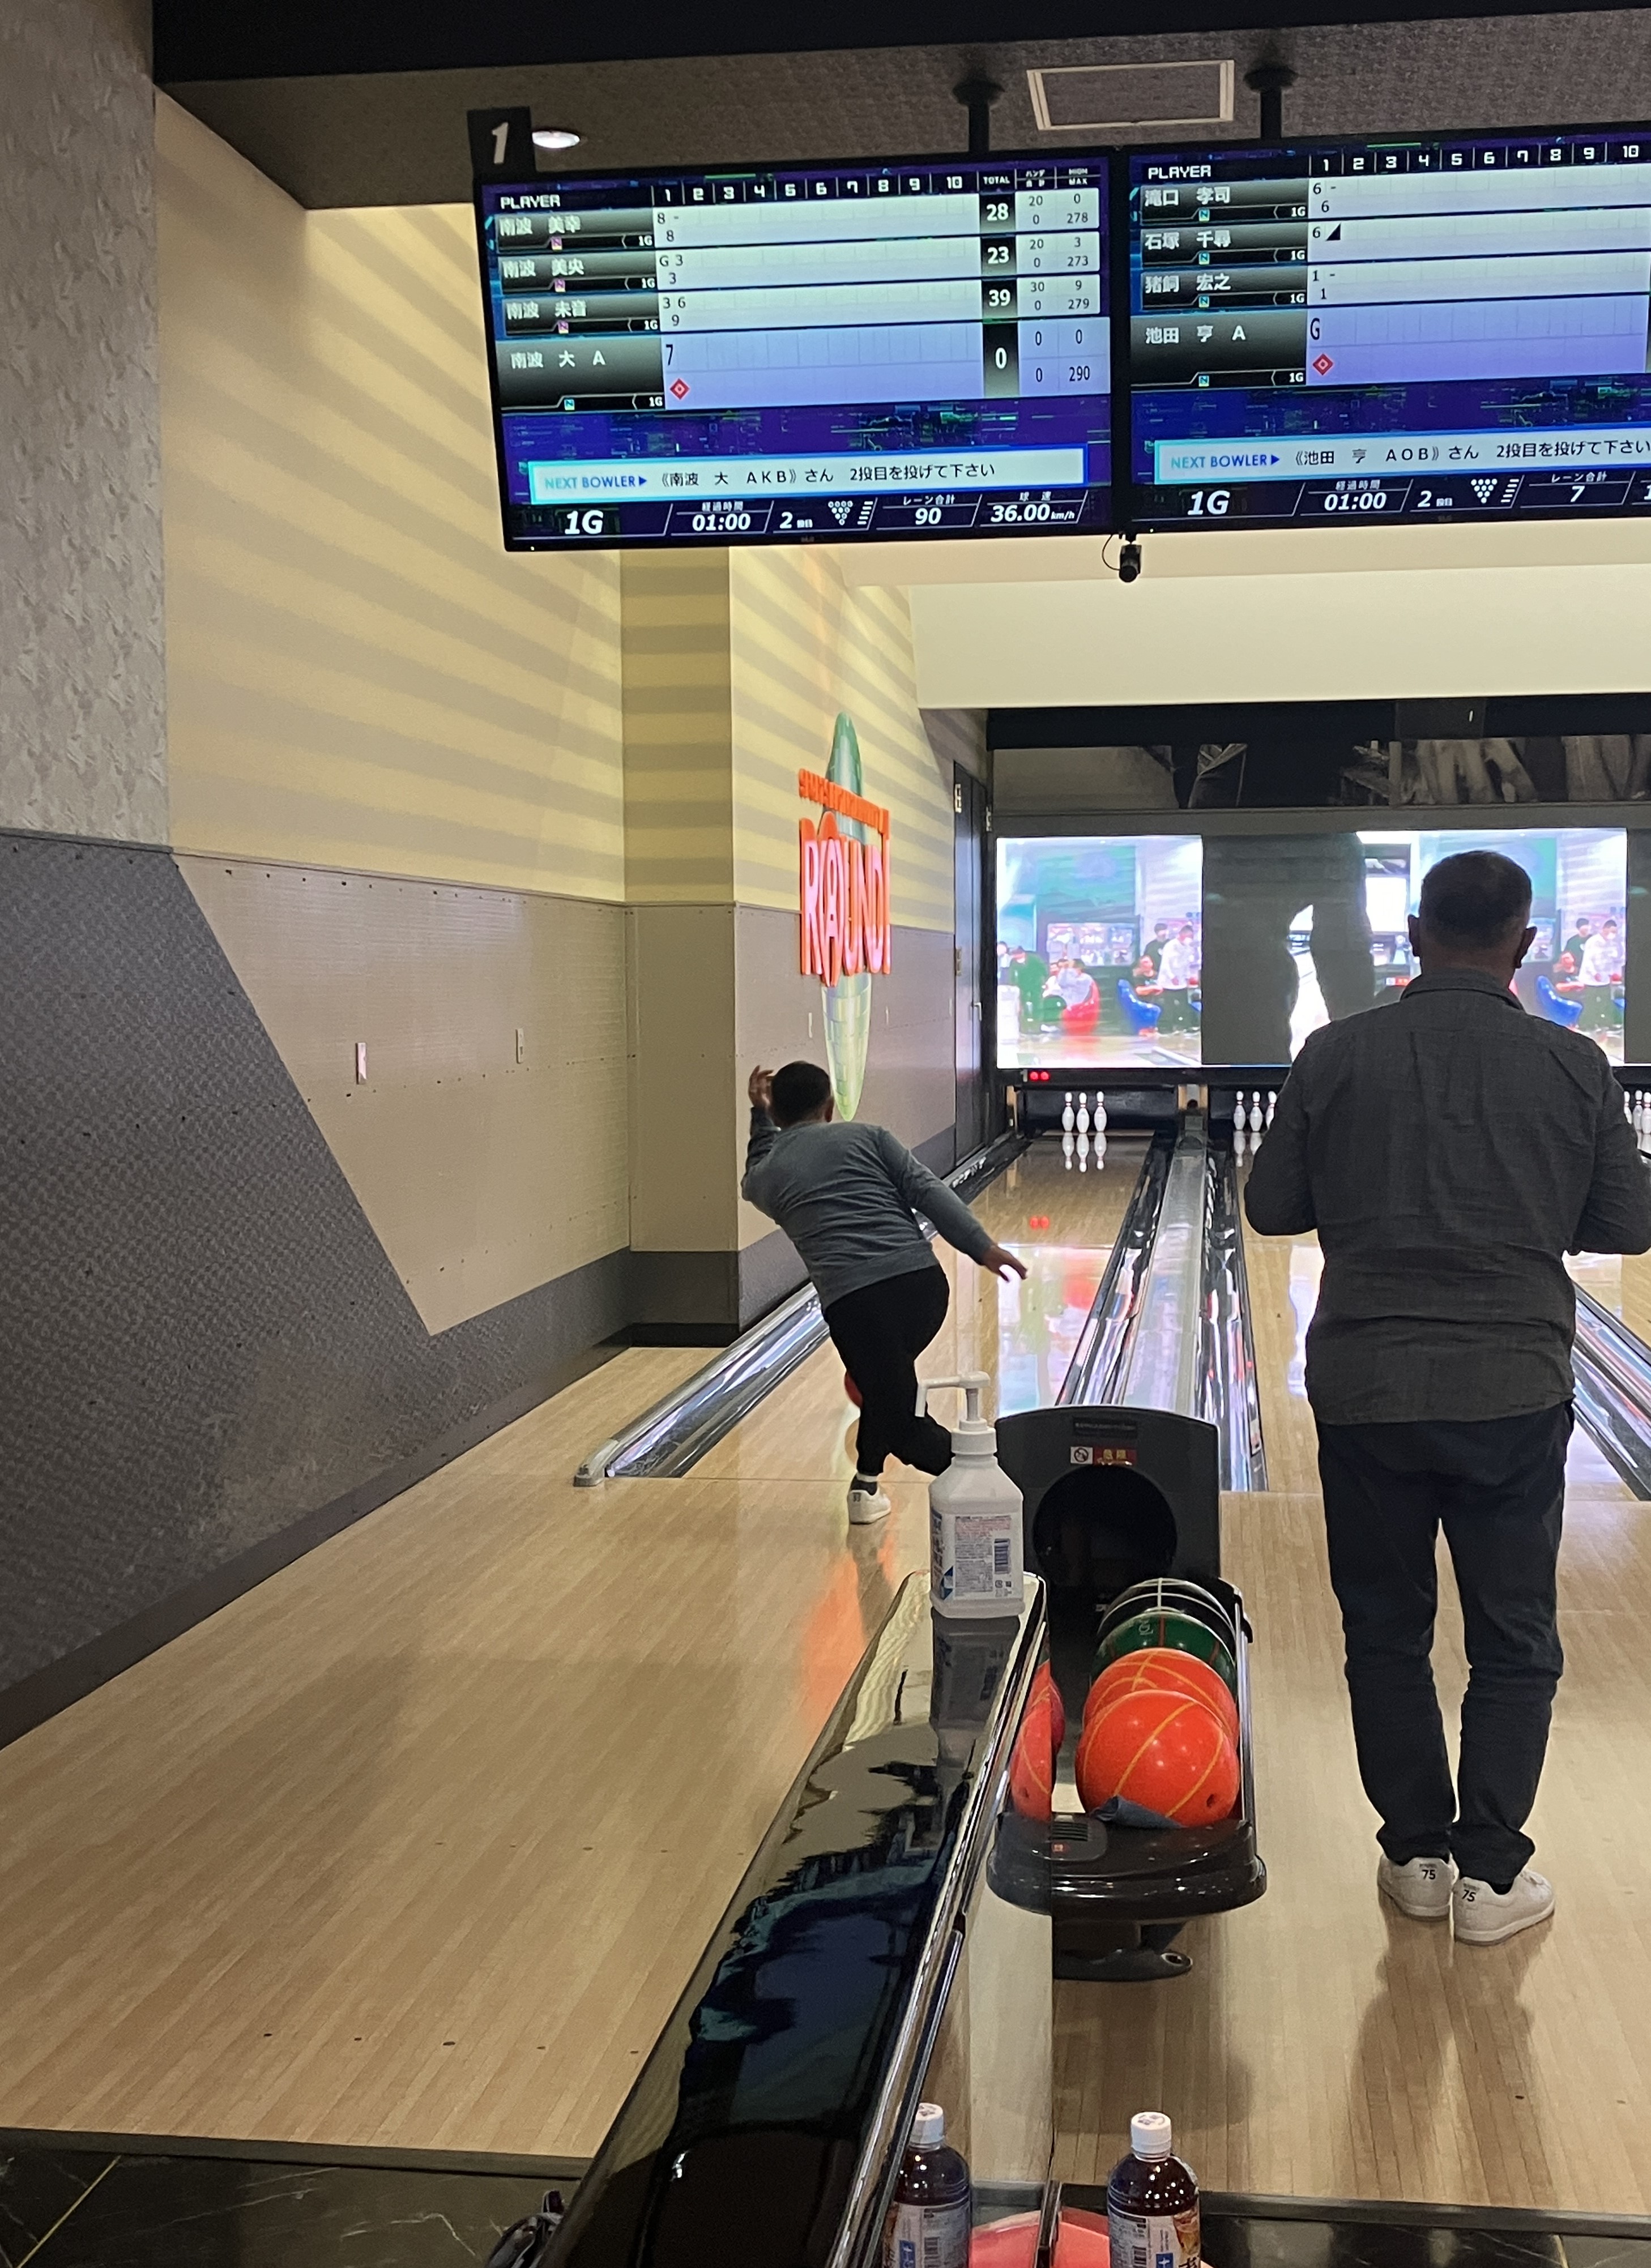
[[[1127,524],[1651,510],[1651,129],[1125,163]]]

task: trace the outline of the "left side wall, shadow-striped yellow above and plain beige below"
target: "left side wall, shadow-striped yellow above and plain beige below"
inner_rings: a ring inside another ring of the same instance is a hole
[[[156,132],[172,837],[442,1331],[630,1234],[619,569],[501,544],[467,209]]]

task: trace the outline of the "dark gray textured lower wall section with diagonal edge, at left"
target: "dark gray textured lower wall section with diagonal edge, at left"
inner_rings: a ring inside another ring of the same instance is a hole
[[[426,1331],[166,850],[0,835],[0,968],[5,1737],[7,1687],[268,1574],[630,1300],[610,1254]]]

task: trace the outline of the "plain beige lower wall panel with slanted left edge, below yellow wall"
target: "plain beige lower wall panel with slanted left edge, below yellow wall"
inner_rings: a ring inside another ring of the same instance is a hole
[[[621,907],[179,866],[429,1331],[624,1250]]]

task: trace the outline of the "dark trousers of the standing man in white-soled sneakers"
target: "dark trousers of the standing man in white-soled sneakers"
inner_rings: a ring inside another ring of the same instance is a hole
[[[1565,1667],[1553,1572],[1569,1438],[1569,1402],[1483,1422],[1320,1422],[1358,1776],[1399,1867],[1454,1857],[1506,1885],[1535,1848],[1524,1821]],[[1429,1660],[1440,1526],[1470,1665],[1456,1787]]]

